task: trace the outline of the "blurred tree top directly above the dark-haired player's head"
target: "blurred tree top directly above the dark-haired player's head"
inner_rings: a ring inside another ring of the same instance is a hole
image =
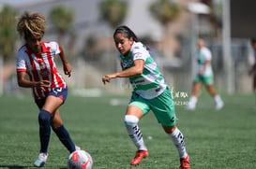
[[[128,4],[123,0],[106,0],[102,1],[99,8],[101,18],[114,28],[127,16]]]

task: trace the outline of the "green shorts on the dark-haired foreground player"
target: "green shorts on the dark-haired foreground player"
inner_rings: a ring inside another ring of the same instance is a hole
[[[169,88],[154,99],[144,99],[139,94],[133,92],[128,106],[139,107],[143,110],[144,115],[146,115],[149,110],[152,110],[158,122],[163,126],[175,125],[174,103]]]

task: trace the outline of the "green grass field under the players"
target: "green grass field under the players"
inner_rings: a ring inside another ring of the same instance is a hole
[[[75,97],[69,94],[61,116],[76,145],[93,157],[94,169],[172,169],[179,159],[171,139],[154,115],[140,122],[149,157],[130,166],[135,147],[123,118],[129,96]],[[118,106],[110,101],[117,99]],[[188,99],[187,99],[188,100]],[[191,168],[252,169],[256,166],[256,106],[253,95],[223,95],[225,106],[215,111],[204,93],[196,111],[176,106],[177,126],[186,138]],[[30,96],[0,98],[0,168],[33,168],[38,155],[38,109]],[[150,139],[152,138],[152,139]],[[66,168],[68,150],[52,132],[45,168]]]

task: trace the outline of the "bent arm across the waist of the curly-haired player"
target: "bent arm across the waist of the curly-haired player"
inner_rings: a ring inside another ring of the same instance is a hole
[[[45,90],[45,88],[49,88],[50,82],[48,80],[40,80],[40,81],[30,81],[25,79],[26,72],[17,71],[17,80],[18,85],[23,88],[41,88]]]

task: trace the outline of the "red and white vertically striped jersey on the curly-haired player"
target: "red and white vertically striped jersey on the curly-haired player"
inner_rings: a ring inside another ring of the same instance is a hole
[[[17,53],[16,70],[26,72],[31,81],[49,80],[50,87],[43,91],[33,88],[35,99],[46,97],[53,88],[66,88],[65,79],[57,71],[54,57],[61,52],[57,42],[42,42],[42,52],[33,53],[29,46],[23,45]]]

